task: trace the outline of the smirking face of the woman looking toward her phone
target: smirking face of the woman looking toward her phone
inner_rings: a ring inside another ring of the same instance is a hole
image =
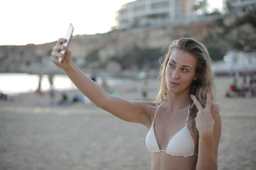
[[[196,80],[196,57],[174,49],[165,68],[165,82],[169,92],[180,93],[190,89]]]

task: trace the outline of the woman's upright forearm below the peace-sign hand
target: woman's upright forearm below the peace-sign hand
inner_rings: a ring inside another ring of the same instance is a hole
[[[217,170],[217,160],[213,153],[213,134],[199,135],[196,170]]]

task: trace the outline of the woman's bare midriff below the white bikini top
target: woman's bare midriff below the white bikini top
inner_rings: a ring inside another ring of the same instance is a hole
[[[195,170],[197,156],[178,157],[164,151],[151,153],[152,170]]]

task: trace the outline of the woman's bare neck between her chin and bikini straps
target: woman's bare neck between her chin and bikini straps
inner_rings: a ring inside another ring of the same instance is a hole
[[[189,92],[189,89],[178,94],[168,92],[166,96],[166,107],[169,107],[170,110],[176,110],[189,106],[191,101]]]

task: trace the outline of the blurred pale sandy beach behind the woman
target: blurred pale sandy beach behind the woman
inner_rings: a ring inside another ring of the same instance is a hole
[[[217,78],[217,103],[221,105],[222,142],[220,170],[256,169],[256,98],[226,98],[232,78]],[[148,100],[154,101],[160,82],[149,80]],[[142,80],[113,86],[117,95],[142,100],[128,93]],[[79,92],[65,92],[69,99]],[[60,100],[61,92],[55,100]],[[151,169],[146,148],[147,129],[120,120],[93,104],[50,106],[49,96],[34,93],[0,103],[0,170],[134,170]]]

